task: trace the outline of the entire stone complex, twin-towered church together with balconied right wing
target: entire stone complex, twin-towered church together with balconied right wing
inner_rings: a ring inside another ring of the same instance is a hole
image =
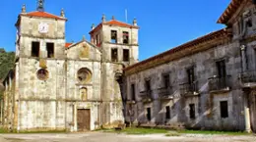
[[[138,62],[136,20],[65,40],[64,11],[23,7],[2,121],[17,130],[140,126],[256,131],[256,5],[231,0],[211,32]]]

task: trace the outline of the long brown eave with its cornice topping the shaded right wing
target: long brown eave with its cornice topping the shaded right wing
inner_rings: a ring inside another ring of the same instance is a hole
[[[225,28],[211,32],[207,35],[204,35],[195,40],[189,41],[180,46],[174,47],[168,51],[160,53],[159,55],[151,57],[151,58],[144,60],[142,62],[139,62],[135,65],[127,67],[124,69],[124,71],[126,72],[126,74],[132,74],[132,73],[138,72],[138,71],[145,71],[150,68],[160,66],[164,63],[168,63],[170,61],[177,60],[184,56],[188,56],[193,53],[209,49],[209,48],[213,47],[212,44],[217,44],[219,42],[222,42],[222,39],[226,39],[225,37],[227,37],[227,33],[228,32]],[[215,41],[217,43],[215,43]]]

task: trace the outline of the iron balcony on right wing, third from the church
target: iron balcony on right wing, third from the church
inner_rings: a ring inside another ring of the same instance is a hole
[[[198,95],[197,81],[179,85],[181,95]]]

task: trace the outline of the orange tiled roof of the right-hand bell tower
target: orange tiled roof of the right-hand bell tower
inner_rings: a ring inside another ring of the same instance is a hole
[[[101,23],[101,24],[98,24],[96,26],[96,28],[94,28],[91,32],[91,33],[94,33],[95,31],[97,31],[101,26],[102,24],[106,24],[106,25],[116,25],[116,26],[121,26],[121,27],[127,27],[127,28],[139,28],[139,26],[136,26],[136,25],[132,25],[132,24],[126,24],[126,23],[122,23],[122,22],[119,22],[119,21],[116,21],[116,20],[111,20],[111,21],[108,21],[108,22],[104,22],[104,23]]]

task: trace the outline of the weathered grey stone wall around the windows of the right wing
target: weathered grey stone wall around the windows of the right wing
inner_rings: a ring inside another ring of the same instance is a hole
[[[146,109],[152,108],[152,120],[154,123],[164,123],[165,106],[171,108],[171,118],[167,121],[184,122],[187,127],[206,129],[244,129],[243,96],[239,88],[238,76],[241,72],[241,57],[238,43],[227,43],[207,51],[200,52],[179,60],[161,65],[159,67],[140,71],[127,76],[127,97],[131,100],[131,84],[136,85],[136,100],[134,111],[136,119],[140,122],[148,122]],[[226,93],[213,93],[209,91],[209,78],[218,75],[216,61],[224,59],[226,74],[231,75],[232,90]],[[186,69],[194,67],[196,81],[199,86],[199,96],[184,97],[180,94],[180,85],[186,83]],[[163,87],[162,74],[170,75],[173,100],[162,101],[159,96],[159,88]],[[145,104],[142,102],[140,92],[145,91],[145,79],[150,78],[152,84],[153,101]],[[220,102],[228,101],[228,118],[221,118]],[[189,118],[189,104],[195,104],[196,119]],[[212,104],[212,106],[209,106]],[[129,117],[127,117],[129,119]]]

